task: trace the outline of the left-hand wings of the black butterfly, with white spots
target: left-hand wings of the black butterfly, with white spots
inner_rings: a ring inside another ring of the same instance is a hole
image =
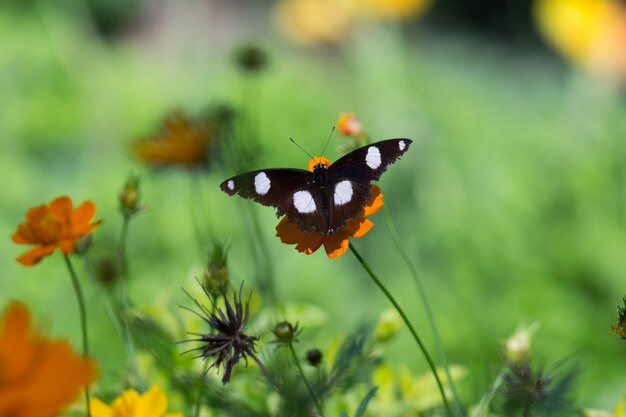
[[[220,184],[226,194],[240,195],[277,209],[303,231],[325,229],[322,202],[313,173],[302,169],[275,168],[246,172]]]

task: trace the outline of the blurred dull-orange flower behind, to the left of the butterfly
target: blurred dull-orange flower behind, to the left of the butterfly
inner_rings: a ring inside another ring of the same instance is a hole
[[[135,144],[139,158],[155,168],[196,168],[207,162],[215,135],[209,124],[174,113],[163,122],[160,133]]]

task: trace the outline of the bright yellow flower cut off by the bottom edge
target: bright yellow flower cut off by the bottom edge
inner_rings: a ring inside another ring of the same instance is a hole
[[[109,406],[98,398],[91,400],[92,417],[183,417],[183,413],[166,413],[167,397],[157,385],[139,394],[134,389],[124,391]]]

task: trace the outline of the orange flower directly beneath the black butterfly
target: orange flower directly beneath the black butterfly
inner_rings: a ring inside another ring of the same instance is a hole
[[[319,163],[326,166],[331,164],[328,159],[318,156],[309,161],[309,171],[313,171],[313,167]],[[363,212],[354,219],[348,220],[346,225],[337,232],[329,235],[303,232],[285,216],[276,226],[276,236],[283,243],[296,245],[298,252],[310,255],[324,245],[329,258],[338,258],[348,250],[349,238],[363,237],[370,231],[374,223],[366,217],[376,213],[382,206],[383,194],[380,188],[372,185],[372,197],[365,204]]]

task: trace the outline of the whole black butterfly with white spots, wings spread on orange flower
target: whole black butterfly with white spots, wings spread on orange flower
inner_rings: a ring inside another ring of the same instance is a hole
[[[287,215],[298,229],[333,234],[359,216],[371,198],[370,181],[402,156],[410,139],[388,139],[356,149],[329,167],[317,164],[313,172],[272,168],[246,172],[220,184],[228,195],[239,194]]]

